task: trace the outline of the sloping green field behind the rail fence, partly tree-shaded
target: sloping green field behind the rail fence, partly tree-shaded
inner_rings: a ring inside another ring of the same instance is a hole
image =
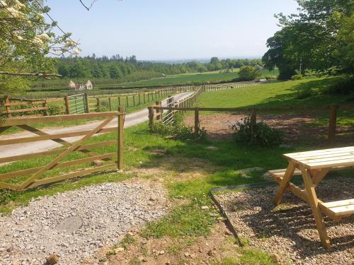
[[[197,104],[200,107],[272,107],[354,102],[354,99],[348,95],[333,96],[323,93],[333,81],[335,78],[311,78],[210,91],[202,93]]]

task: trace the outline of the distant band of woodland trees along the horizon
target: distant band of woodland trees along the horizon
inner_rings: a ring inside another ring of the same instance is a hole
[[[62,57],[55,61],[55,68],[64,79],[105,80],[105,82],[100,83],[123,83],[172,74],[234,69],[244,65],[261,66],[262,61],[261,59],[219,60],[217,57],[212,57],[208,63],[191,61],[183,64],[167,64],[137,61],[135,55],[123,58],[119,54],[112,57],[96,57],[95,54],[88,57]],[[44,83],[47,85],[47,82],[33,82],[33,86],[42,87]]]

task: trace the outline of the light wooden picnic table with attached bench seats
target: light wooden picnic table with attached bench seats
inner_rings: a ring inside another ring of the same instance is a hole
[[[354,146],[287,153],[284,157],[289,160],[287,169],[270,171],[270,174],[280,184],[274,203],[276,205],[280,204],[286,189],[289,189],[295,196],[307,202],[312,208],[321,242],[324,247],[329,249],[331,245],[322,213],[335,221],[351,216],[354,213],[354,199],[323,202],[317,198],[315,188],[330,170],[354,166]],[[302,175],[304,189],[300,189],[290,182],[294,175]]]

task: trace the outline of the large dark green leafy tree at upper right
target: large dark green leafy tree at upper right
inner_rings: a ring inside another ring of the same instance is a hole
[[[267,40],[263,63],[278,66],[280,79],[306,69],[353,73],[353,2],[351,0],[297,0],[299,14],[284,16],[282,27]]]

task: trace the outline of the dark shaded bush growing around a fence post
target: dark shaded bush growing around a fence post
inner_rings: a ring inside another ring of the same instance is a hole
[[[251,136],[251,118],[246,117],[236,122],[232,126],[234,130],[234,139],[239,142],[250,143]],[[279,146],[284,140],[284,134],[278,129],[273,129],[265,122],[257,122],[253,126],[253,144],[260,146]]]

